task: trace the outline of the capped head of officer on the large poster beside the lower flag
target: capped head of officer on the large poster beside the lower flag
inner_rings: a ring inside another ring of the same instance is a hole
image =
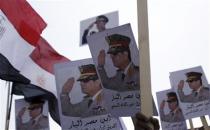
[[[96,73],[95,65],[88,64],[79,67],[80,77],[77,81],[80,81],[82,92],[94,96],[99,90],[101,90],[101,82]]]

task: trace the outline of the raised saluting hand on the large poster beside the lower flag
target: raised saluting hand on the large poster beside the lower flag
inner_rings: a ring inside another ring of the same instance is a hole
[[[72,90],[74,86],[74,82],[75,82],[75,79],[73,77],[69,78],[63,85],[62,93],[68,94]]]

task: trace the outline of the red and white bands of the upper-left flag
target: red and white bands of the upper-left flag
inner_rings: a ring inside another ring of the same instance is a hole
[[[26,0],[0,0],[0,53],[20,70],[46,26]]]

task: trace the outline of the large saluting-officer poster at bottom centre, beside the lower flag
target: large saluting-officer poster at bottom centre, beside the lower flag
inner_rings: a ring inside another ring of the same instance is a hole
[[[120,120],[106,109],[101,81],[92,59],[55,65],[59,113],[63,129],[121,130]]]

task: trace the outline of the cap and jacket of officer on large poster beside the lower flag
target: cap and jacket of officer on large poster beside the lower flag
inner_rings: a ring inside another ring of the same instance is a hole
[[[95,66],[93,64],[83,65],[79,67],[80,77],[77,81],[86,82],[89,80],[97,80]],[[95,98],[93,98],[95,97]],[[77,104],[72,104],[68,94],[61,94],[62,113],[65,116],[88,117],[94,115],[107,114],[104,108],[104,97],[102,90],[98,91],[95,96],[85,96],[83,100]]]

